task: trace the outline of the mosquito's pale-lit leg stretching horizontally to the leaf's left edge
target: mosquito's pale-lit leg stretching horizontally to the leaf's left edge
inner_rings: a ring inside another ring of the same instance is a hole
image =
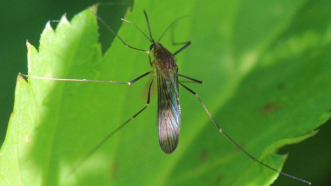
[[[47,77],[40,77],[40,76],[30,76],[27,74],[22,74],[19,72],[19,75],[24,76],[26,78],[32,78],[32,79],[44,79],[44,80],[52,80],[52,81],[83,81],[83,82],[96,82],[96,83],[113,83],[113,84],[122,84],[122,85],[132,85],[134,82],[138,81],[139,79],[143,78],[144,76],[147,76],[151,72],[146,72],[145,74],[142,74],[141,76],[137,77],[136,79],[129,81],[129,82],[118,82],[118,81],[104,81],[104,80],[94,80],[94,79],[60,79],[60,78],[47,78]]]

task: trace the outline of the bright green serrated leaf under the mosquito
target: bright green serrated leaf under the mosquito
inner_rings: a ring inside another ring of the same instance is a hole
[[[174,28],[177,41],[194,41],[177,55],[180,74],[205,82],[188,86],[234,141],[281,169],[286,156],[275,154],[277,149],[312,136],[330,118],[330,8],[330,1],[322,0],[146,0],[137,2],[126,19],[147,33],[146,9],[153,37],[159,39],[173,20],[190,14]],[[110,23],[112,19],[118,18]],[[150,42],[128,23],[119,36],[136,48],[149,48]],[[91,9],[70,22],[63,17],[56,30],[48,23],[40,42],[38,51],[28,43],[32,76],[125,82],[150,71],[146,54],[126,48],[119,39],[101,54]],[[169,33],[161,43],[172,52],[179,49],[171,45]],[[40,79],[27,83],[19,76],[0,152],[0,185],[274,182],[278,174],[221,136],[199,101],[183,88],[181,137],[173,154],[159,147],[153,89],[150,107],[68,176],[97,143],[145,106],[151,79],[128,87]]]

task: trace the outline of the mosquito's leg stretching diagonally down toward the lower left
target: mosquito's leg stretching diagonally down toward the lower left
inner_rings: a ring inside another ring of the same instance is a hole
[[[139,110],[139,112],[137,112],[137,114],[134,114],[131,118],[129,118],[126,122],[122,123],[121,125],[119,125],[119,127],[117,127],[114,131],[112,131],[110,134],[108,134],[105,138],[103,138],[102,141],[100,141],[97,145],[95,145],[93,147],[93,149],[88,152],[88,154],[86,154],[78,163],[77,165],[75,165],[71,172],[68,174],[68,176],[70,176],[70,174],[74,173],[77,168],[79,168],[81,166],[81,164],[86,161],[94,152],[97,151],[97,149],[99,149],[104,143],[106,143],[106,141],[108,141],[109,138],[111,138],[114,134],[116,134],[117,132],[119,132],[119,130],[121,130],[121,128],[123,128],[126,124],[128,124],[130,121],[134,120],[134,118],[136,118],[141,112],[143,112],[143,110],[146,110],[146,108],[150,105],[150,88],[152,87],[152,83],[153,83],[154,79],[152,80],[152,82],[150,82],[150,87],[148,88],[148,97],[147,97],[147,103],[146,106],[143,107],[141,110]]]

